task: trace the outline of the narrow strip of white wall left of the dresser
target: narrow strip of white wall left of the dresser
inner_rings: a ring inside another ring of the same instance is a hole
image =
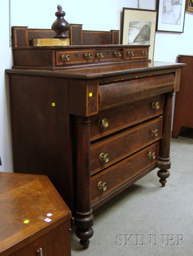
[[[0,2],[0,156],[1,172],[12,171],[11,124],[9,114],[9,88],[5,68],[12,67],[12,51],[9,47],[9,1]],[[6,79],[6,83],[5,83]]]

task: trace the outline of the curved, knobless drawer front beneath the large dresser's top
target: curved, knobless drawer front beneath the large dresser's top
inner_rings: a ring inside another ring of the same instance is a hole
[[[99,86],[99,111],[143,100],[174,89],[173,73],[144,76]]]

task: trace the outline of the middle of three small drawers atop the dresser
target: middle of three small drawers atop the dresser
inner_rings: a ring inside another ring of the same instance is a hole
[[[123,60],[123,49],[96,49],[95,62],[105,60]]]

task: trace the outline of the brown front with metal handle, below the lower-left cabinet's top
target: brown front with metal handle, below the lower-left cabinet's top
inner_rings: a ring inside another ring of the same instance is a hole
[[[71,255],[70,220],[54,228],[10,256]],[[42,254],[40,253],[40,248]],[[39,252],[38,252],[39,251]]]

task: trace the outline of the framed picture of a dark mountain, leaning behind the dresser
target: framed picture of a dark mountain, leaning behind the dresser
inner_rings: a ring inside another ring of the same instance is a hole
[[[157,11],[123,7],[122,44],[150,45],[153,60]]]

